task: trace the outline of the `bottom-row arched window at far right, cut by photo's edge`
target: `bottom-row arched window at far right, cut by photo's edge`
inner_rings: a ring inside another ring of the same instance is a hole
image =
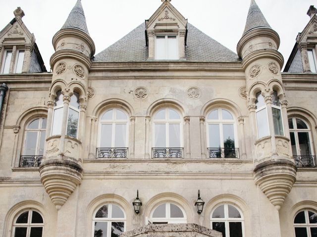
[[[317,212],[303,210],[294,218],[295,237],[317,237]]]

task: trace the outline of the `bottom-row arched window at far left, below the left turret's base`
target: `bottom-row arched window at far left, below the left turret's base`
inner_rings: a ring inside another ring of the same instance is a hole
[[[20,213],[13,223],[12,237],[42,237],[44,221],[35,210]]]

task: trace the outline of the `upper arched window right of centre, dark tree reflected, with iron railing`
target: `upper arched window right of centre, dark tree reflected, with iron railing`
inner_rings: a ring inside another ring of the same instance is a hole
[[[209,158],[238,158],[235,119],[225,109],[212,110],[207,116]]]

